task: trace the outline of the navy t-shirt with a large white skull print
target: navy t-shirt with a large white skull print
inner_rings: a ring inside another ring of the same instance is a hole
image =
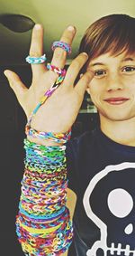
[[[67,175],[76,255],[135,255],[135,147],[86,132],[67,143]]]

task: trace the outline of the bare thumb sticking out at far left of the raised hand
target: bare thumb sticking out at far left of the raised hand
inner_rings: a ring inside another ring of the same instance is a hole
[[[9,81],[10,87],[14,90],[14,93],[20,102],[23,98],[24,92],[28,89],[14,71],[5,70],[4,75]]]

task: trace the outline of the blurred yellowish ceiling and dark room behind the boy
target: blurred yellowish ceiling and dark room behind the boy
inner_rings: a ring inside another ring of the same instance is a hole
[[[52,56],[51,43],[59,39],[67,25],[76,26],[76,38],[72,54],[67,59],[68,65],[77,54],[86,28],[107,14],[130,14],[135,17],[135,0],[0,0],[0,244],[4,256],[23,256],[14,223],[23,177],[26,119],[3,72],[5,69],[16,71],[27,87],[31,85],[31,67],[25,62],[25,57],[29,52],[34,24],[44,26],[44,50],[48,61]],[[85,94],[72,136],[76,137],[96,125],[96,109]],[[72,252],[71,255],[74,256]]]

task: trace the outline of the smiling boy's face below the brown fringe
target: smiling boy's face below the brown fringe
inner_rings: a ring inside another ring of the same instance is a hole
[[[94,71],[87,92],[100,119],[135,119],[135,53],[102,54],[91,60],[87,70]]]

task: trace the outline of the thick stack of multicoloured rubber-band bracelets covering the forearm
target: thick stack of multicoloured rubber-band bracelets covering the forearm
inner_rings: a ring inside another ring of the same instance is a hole
[[[66,147],[45,147],[24,139],[24,148],[25,170],[16,216],[18,240],[27,256],[59,256],[73,240],[66,206]]]

